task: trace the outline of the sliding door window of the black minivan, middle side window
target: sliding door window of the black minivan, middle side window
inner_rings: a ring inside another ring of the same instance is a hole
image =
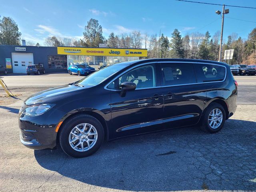
[[[190,63],[163,63],[163,86],[196,83],[193,64]]]

